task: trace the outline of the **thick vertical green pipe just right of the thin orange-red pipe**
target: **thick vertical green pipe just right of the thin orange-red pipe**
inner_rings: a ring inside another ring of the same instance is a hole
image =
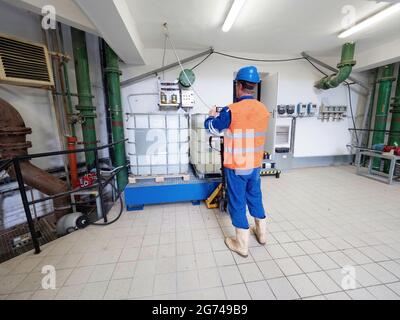
[[[85,148],[96,148],[96,108],[92,102],[92,86],[90,83],[89,59],[86,48],[86,34],[83,31],[71,28],[72,44],[74,48],[76,85],[79,95],[79,104],[76,109],[82,119],[82,134]],[[95,166],[94,152],[86,153],[86,165],[89,169]]]

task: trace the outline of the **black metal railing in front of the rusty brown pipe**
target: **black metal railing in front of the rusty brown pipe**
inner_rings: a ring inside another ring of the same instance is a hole
[[[53,199],[57,199],[57,198],[61,198],[61,197],[65,197],[66,195],[72,195],[74,193],[80,192],[80,191],[84,191],[84,190],[91,190],[94,188],[97,188],[98,191],[98,195],[100,198],[100,204],[101,204],[101,210],[103,213],[103,220],[104,223],[108,222],[107,219],[107,212],[104,210],[104,195],[103,195],[103,191],[104,189],[115,179],[115,177],[123,170],[125,169],[125,167],[120,167],[117,168],[116,170],[112,171],[112,174],[107,178],[107,179],[102,179],[101,177],[101,170],[100,170],[100,161],[99,161],[99,151],[100,150],[105,150],[105,149],[111,149],[114,148],[116,145],[121,144],[121,143],[125,143],[128,139],[125,140],[121,140],[112,144],[108,144],[108,145],[103,145],[97,148],[87,148],[87,149],[77,149],[77,150],[66,150],[66,151],[56,151],[56,152],[46,152],[46,153],[37,153],[37,154],[29,154],[29,155],[24,155],[24,156],[17,156],[13,159],[7,159],[5,160],[1,165],[0,165],[0,172],[3,170],[6,170],[8,167],[10,167],[11,165],[14,166],[14,171],[15,171],[15,176],[18,182],[18,187],[19,187],[19,191],[21,194],[21,199],[22,199],[22,204],[24,207],[24,211],[25,211],[25,216],[26,216],[26,220],[27,220],[27,224],[28,224],[28,228],[29,228],[29,232],[31,234],[32,237],[32,243],[33,243],[33,247],[35,249],[35,254],[39,254],[41,252],[40,250],[40,244],[39,244],[39,234],[36,231],[35,228],[35,222],[33,220],[32,217],[32,212],[30,209],[31,205],[35,205],[37,203],[41,203],[41,202],[45,202],[48,200],[53,200]],[[47,158],[47,157],[54,157],[54,156],[61,156],[61,155],[68,155],[68,154],[79,154],[79,153],[87,153],[87,152],[93,152],[94,153],[94,158],[95,158],[95,169],[96,169],[96,176],[97,176],[97,182],[94,183],[91,186],[88,187],[83,187],[83,188],[78,188],[75,190],[71,190],[68,192],[63,192],[63,193],[59,193],[53,196],[48,196],[39,200],[34,200],[34,201],[29,201],[28,197],[26,195],[26,187],[25,187],[25,183],[24,183],[24,178],[22,176],[22,172],[21,172],[21,166],[20,163],[21,161],[30,161],[32,159],[38,159],[38,158]],[[119,194],[117,195],[116,198],[118,198],[121,194],[121,191],[118,191]]]

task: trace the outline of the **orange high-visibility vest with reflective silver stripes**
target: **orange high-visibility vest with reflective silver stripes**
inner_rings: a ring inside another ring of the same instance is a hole
[[[225,132],[224,166],[250,170],[262,165],[270,113],[257,100],[242,100],[229,106],[231,126]]]

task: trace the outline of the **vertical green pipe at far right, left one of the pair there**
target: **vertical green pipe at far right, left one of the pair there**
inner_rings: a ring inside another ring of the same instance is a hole
[[[378,144],[385,143],[385,130],[387,126],[387,118],[389,114],[390,96],[392,93],[392,83],[395,80],[393,77],[394,64],[381,68],[381,78],[379,82],[378,104],[376,106],[375,126],[374,130],[381,132],[374,132],[372,137],[372,147]],[[376,158],[373,162],[373,169],[381,170],[381,160]]]

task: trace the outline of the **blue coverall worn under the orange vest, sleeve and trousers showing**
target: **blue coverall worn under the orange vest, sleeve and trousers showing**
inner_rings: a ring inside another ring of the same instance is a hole
[[[244,96],[239,101],[254,99],[252,96]],[[225,107],[218,117],[209,117],[205,128],[214,135],[219,135],[231,125],[232,114],[229,107]],[[261,191],[261,168],[250,171],[232,170],[225,168],[225,175],[228,184],[229,205],[228,211],[232,224],[239,229],[249,229],[249,222],[246,216],[246,205],[252,217],[265,219],[265,210],[262,202]]]

